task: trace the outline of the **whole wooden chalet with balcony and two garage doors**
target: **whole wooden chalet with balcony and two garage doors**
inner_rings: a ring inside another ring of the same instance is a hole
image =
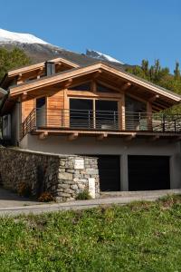
[[[134,175],[140,179],[140,172],[134,174],[137,161],[143,166],[148,161],[149,167],[153,163],[157,179],[166,179],[150,185],[151,189],[178,186],[172,185],[177,184],[175,174],[170,176],[176,166],[172,163],[171,170],[168,160],[178,153],[181,116],[164,113],[181,102],[175,92],[109,63],[80,65],[57,58],[5,74],[0,97],[5,139],[36,151],[100,156],[102,190],[148,189],[144,179],[139,185],[130,181]],[[160,166],[160,156],[165,166]],[[105,172],[110,160],[112,169],[117,165],[115,173]],[[120,165],[127,173],[121,173]],[[166,171],[160,170],[164,167]],[[109,175],[116,175],[117,181],[106,180]]]

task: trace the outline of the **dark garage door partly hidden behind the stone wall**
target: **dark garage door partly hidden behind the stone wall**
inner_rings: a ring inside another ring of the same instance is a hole
[[[100,190],[120,190],[119,156],[96,155],[99,158]]]

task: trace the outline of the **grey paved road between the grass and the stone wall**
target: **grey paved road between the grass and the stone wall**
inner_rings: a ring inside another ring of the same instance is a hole
[[[90,199],[90,200],[76,200],[65,203],[53,203],[53,204],[40,204],[40,202],[30,201],[29,199],[20,199],[14,194],[10,194],[9,199],[2,198],[3,192],[9,196],[8,191],[0,189],[0,216],[16,216],[20,214],[39,214],[43,212],[52,212],[59,210],[71,210],[71,209],[91,209],[99,206],[106,206],[111,204],[124,205],[131,201],[136,200],[156,200],[160,197],[169,194],[181,194],[181,189],[174,190],[158,190],[158,191],[142,191],[142,192],[120,192],[119,196],[107,197],[103,199]],[[16,198],[16,199],[12,199]],[[17,206],[15,206],[15,203]],[[38,205],[37,205],[38,203]],[[8,204],[8,205],[7,205]],[[22,205],[20,205],[22,204]],[[30,206],[24,206],[30,205]],[[5,207],[5,205],[7,205]]]

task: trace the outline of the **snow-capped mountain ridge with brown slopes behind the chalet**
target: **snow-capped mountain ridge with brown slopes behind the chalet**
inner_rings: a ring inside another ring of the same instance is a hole
[[[49,44],[33,34],[14,33],[4,29],[0,29],[0,47],[5,47],[8,50],[18,47],[24,50],[24,53],[31,58],[33,63],[62,57],[80,65],[95,63],[95,59],[97,59],[121,69],[127,67],[127,64],[120,63],[107,54],[90,50],[87,50],[86,53],[75,53]]]

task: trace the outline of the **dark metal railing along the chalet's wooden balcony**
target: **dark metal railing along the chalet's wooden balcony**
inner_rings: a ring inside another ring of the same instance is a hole
[[[33,109],[22,124],[22,138],[36,130],[181,132],[181,115],[89,110]]]

